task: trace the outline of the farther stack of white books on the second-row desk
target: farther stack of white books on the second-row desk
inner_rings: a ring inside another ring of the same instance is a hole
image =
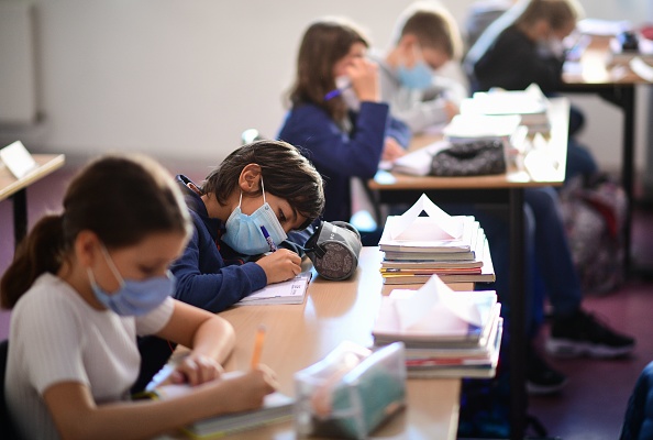
[[[524,90],[477,91],[461,102],[464,118],[510,117],[507,121],[518,118],[518,125],[527,127],[529,133],[551,130],[547,109],[549,100],[536,84],[531,84]]]

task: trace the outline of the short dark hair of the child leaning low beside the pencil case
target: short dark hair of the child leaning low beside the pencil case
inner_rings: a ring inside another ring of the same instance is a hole
[[[295,212],[307,218],[300,229],[322,213],[324,189],[320,173],[297,147],[283,141],[256,141],[234,150],[207,176],[202,193],[214,195],[220,205],[225,205],[248,164],[261,166],[266,193],[288,200]]]

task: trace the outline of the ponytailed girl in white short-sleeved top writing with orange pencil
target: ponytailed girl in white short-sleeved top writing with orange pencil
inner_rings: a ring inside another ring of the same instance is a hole
[[[167,267],[190,221],[179,190],[142,156],[87,165],[64,196],[64,211],[41,219],[2,276],[13,308],[5,397],[30,439],[150,438],[209,416],[259,407],[275,388],[265,366],[221,380],[232,327],[169,297]],[[195,391],[131,402],[136,334],[191,349],[173,378]]]

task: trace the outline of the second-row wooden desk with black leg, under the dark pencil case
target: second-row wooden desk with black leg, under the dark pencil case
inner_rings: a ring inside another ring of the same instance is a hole
[[[551,168],[547,173],[538,174],[536,177],[516,167],[503,175],[477,177],[421,177],[379,172],[368,182],[368,187],[376,191],[377,201],[381,204],[412,204],[424,193],[435,204],[464,201],[507,205],[510,211],[510,306],[512,310],[525,309],[522,296],[525,285],[523,190],[529,187],[560,186],[564,182],[569,101],[566,98],[553,98],[550,101],[551,133],[547,136],[547,148],[558,163],[557,169]],[[414,146],[424,146],[433,141],[435,136],[418,139]],[[512,314],[510,321],[512,329],[521,329],[521,331],[512,331],[509,341],[510,364],[513,365],[510,374],[511,438],[522,439],[527,408],[523,367],[527,349],[525,320],[522,314]]]

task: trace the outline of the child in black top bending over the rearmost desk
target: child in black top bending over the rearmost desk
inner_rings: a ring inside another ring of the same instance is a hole
[[[563,40],[574,31],[582,14],[575,0],[517,1],[488,25],[465,56],[473,90],[523,90],[535,82],[546,95],[560,91],[565,62]],[[584,124],[583,112],[572,107],[569,136]],[[584,148],[572,145],[569,154],[567,166],[580,173],[596,172],[596,163]]]

